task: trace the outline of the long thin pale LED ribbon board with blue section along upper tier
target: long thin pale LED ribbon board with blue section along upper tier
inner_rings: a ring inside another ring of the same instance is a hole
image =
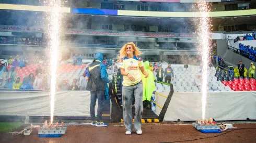
[[[136,6],[136,5],[134,5]],[[26,11],[46,11],[53,10],[46,6],[31,5],[13,5],[0,4],[2,10],[26,10]],[[60,12],[69,14],[86,14],[86,15],[112,15],[112,16],[134,16],[134,17],[180,17],[194,18],[201,17],[203,14],[199,12],[169,12],[169,11],[137,11],[137,10],[116,10],[116,9],[99,9],[99,8],[74,8],[62,7]],[[249,10],[231,10],[231,11],[211,11],[208,17],[237,17],[256,15],[256,9]]]

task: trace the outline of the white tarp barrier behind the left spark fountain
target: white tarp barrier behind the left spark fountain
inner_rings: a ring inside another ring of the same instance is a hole
[[[49,92],[1,91],[0,115],[50,116]],[[96,102],[95,114],[97,115]],[[60,91],[55,96],[55,116],[90,116],[90,92]]]

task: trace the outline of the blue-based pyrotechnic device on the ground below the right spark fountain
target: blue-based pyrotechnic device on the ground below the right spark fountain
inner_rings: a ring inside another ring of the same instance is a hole
[[[207,119],[196,120],[196,122],[193,123],[193,127],[195,127],[201,133],[222,133],[219,125],[217,125],[212,118],[210,118],[210,121]]]

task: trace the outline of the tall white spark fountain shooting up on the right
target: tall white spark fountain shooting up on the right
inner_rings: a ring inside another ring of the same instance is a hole
[[[209,53],[211,47],[210,27],[211,21],[208,17],[210,5],[207,0],[197,0],[197,9],[200,17],[197,19],[197,37],[200,44],[199,51],[201,54],[202,67],[202,119],[205,119],[206,96],[207,96],[207,67],[209,63]]]

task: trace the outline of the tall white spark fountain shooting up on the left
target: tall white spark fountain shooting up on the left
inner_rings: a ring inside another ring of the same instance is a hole
[[[60,33],[61,33],[61,0],[48,0],[44,2],[46,6],[51,8],[46,15],[48,24],[46,25],[46,33],[48,36],[48,51],[50,56],[50,106],[51,106],[51,123],[53,123],[54,101],[56,95],[56,77],[57,66],[60,57]]]

